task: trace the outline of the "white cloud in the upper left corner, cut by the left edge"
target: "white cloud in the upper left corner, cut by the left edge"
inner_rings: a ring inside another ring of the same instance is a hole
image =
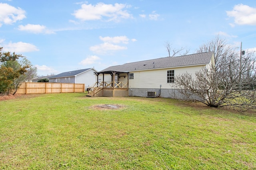
[[[21,8],[15,8],[9,4],[0,3],[0,26],[4,24],[12,24],[16,21],[26,18],[25,11]]]

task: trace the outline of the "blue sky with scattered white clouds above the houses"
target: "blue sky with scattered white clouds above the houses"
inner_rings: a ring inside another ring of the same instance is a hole
[[[256,50],[255,0],[0,0],[0,47],[39,75],[195,53],[216,35]]]

